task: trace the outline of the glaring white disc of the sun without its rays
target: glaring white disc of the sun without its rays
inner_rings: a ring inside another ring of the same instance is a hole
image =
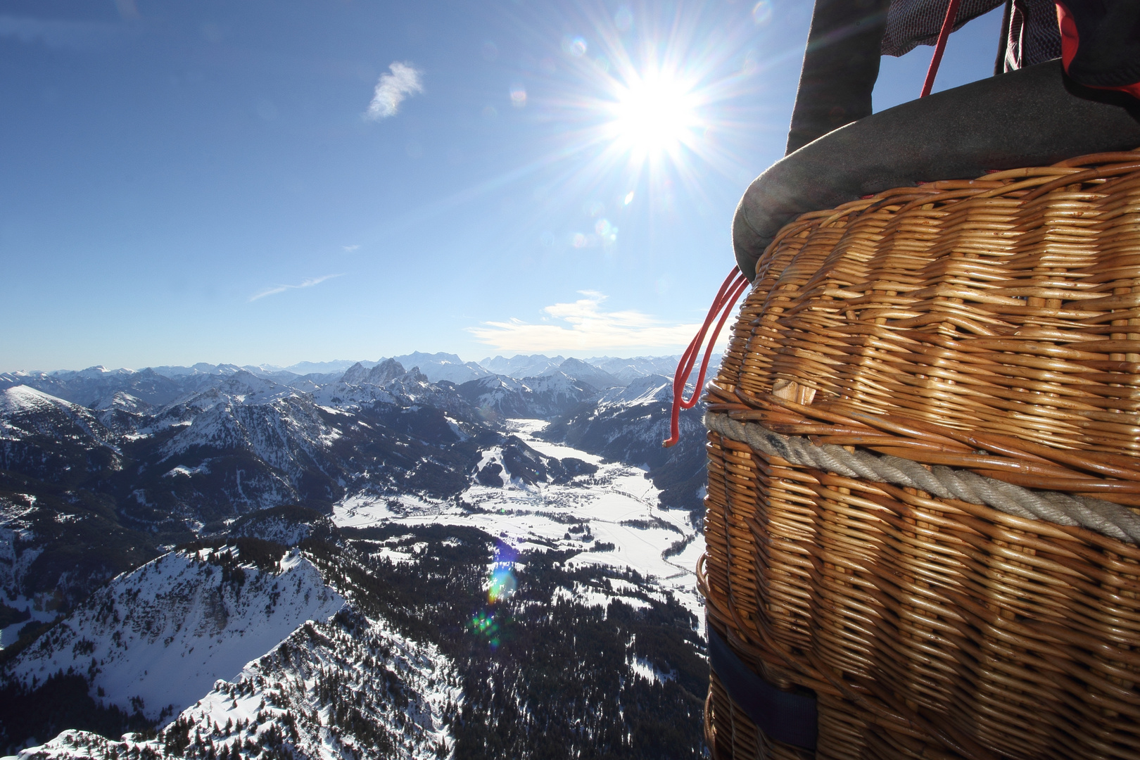
[[[700,126],[692,85],[665,72],[649,72],[616,92],[609,128],[620,148],[642,157],[674,153]]]

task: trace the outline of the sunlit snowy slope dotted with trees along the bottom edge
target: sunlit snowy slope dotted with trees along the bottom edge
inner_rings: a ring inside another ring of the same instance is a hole
[[[214,757],[222,750],[230,758],[282,750],[288,754],[268,757],[449,758],[461,704],[455,665],[434,646],[344,614],[306,623],[233,681],[218,681],[155,739],[114,742],[68,730],[18,758]]]

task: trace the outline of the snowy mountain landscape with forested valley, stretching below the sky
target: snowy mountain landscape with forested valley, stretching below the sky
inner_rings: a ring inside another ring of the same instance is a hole
[[[331,363],[0,375],[0,750],[698,757],[676,358]]]

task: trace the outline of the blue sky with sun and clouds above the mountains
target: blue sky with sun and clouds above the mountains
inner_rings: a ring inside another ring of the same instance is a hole
[[[805,0],[0,0],[0,370],[678,352]],[[936,89],[992,73],[1000,11]],[[931,48],[883,60],[880,109]]]

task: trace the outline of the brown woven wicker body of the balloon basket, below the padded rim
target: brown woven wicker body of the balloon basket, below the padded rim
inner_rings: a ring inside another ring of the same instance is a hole
[[[714,757],[1140,758],[1140,152],[800,216],[707,401]]]

